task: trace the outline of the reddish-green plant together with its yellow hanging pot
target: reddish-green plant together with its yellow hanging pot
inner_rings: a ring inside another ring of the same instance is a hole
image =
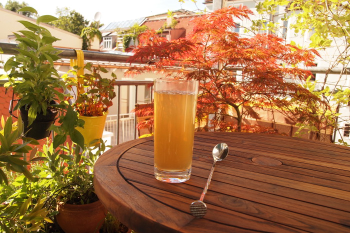
[[[116,75],[112,72],[111,78],[101,77],[100,72],[108,71],[100,65],[93,66],[92,63],[86,63],[84,69],[89,73],[76,75],[75,70],[69,70],[62,78],[72,93],[73,109],[77,111],[78,118],[84,121],[83,126],[76,129],[83,135],[84,143],[91,144],[92,140],[102,137],[108,107],[113,104],[111,100],[115,97]]]

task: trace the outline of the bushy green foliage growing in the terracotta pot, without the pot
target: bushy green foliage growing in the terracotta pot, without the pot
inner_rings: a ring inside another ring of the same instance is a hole
[[[54,180],[54,194],[61,201],[70,204],[87,204],[98,200],[93,188],[93,165],[106,147],[102,139],[93,148],[66,144],[53,149],[52,145],[43,149],[42,165]]]

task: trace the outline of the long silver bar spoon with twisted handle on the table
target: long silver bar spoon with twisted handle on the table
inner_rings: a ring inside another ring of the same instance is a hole
[[[218,143],[212,149],[212,157],[214,158],[214,161],[212,163],[209,177],[206,180],[206,184],[203,189],[203,192],[201,193],[199,200],[193,201],[189,206],[189,210],[193,216],[203,217],[206,214],[206,204],[203,202],[203,199],[206,191],[208,190],[211,176],[212,176],[212,173],[214,172],[215,163],[216,161],[223,160],[227,156],[227,154],[228,154],[228,146],[226,143]]]

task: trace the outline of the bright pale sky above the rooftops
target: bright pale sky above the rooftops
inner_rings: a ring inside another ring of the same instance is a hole
[[[50,14],[57,16],[56,9],[68,7],[84,16],[86,20],[93,20],[96,12],[101,13],[100,23],[108,24],[113,21],[135,19],[144,16],[164,13],[167,10],[196,10],[204,9],[204,0],[17,0],[24,1],[35,8],[39,15]],[[4,7],[7,0],[0,0]]]

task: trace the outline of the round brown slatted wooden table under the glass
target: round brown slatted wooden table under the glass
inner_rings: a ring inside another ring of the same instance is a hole
[[[204,202],[189,212],[212,165]],[[313,140],[237,132],[197,132],[192,173],[183,183],[153,175],[153,137],[109,149],[94,167],[95,191],[117,219],[140,232],[350,232],[350,148]]]

